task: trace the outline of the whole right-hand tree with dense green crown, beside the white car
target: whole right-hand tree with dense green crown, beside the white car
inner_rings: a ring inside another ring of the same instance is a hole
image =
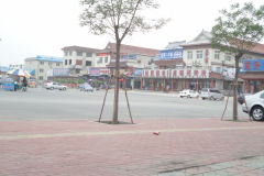
[[[221,10],[221,16],[212,28],[211,44],[222,52],[230,52],[235,61],[235,76],[233,79],[233,120],[238,120],[238,76],[239,62],[263,40],[264,36],[264,6],[255,8],[253,3],[243,6],[235,3],[229,10]]]

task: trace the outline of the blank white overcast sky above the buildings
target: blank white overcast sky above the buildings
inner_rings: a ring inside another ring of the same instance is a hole
[[[160,0],[152,18],[170,18],[163,29],[136,33],[123,44],[164,48],[168,42],[190,41],[201,30],[210,31],[219,10],[246,0]],[[253,0],[255,6],[263,0]],[[79,0],[0,0],[0,66],[24,64],[36,55],[63,57],[64,46],[105,48],[110,36],[89,34],[79,25]]]

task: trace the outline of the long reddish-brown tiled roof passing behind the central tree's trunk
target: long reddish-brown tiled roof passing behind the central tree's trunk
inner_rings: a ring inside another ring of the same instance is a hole
[[[116,53],[116,43],[109,42],[107,47],[105,48],[108,52]],[[140,55],[146,55],[146,56],[153,56],[155,57],[158,54],[158,50],[153,48],[145,48],[145,47],[139,47],[139,46],[131,46],[131,45],[121,45],[120,53],[122,54],[140,54]]]

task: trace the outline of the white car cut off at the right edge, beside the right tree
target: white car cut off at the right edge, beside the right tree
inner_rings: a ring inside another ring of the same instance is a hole
[[[245,96],[245,102],[242,105],[243,112],[250,113],[250,116],[255,121],[263,121],[264,120],[264,90],[256,92],[254,95]]]

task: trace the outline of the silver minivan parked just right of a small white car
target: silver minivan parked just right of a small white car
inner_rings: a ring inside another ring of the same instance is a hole
[[[218,89],[212,88],[202,88],[200,97],[202,100],[210,99],[210,100],[223,100],[223,94]]]

